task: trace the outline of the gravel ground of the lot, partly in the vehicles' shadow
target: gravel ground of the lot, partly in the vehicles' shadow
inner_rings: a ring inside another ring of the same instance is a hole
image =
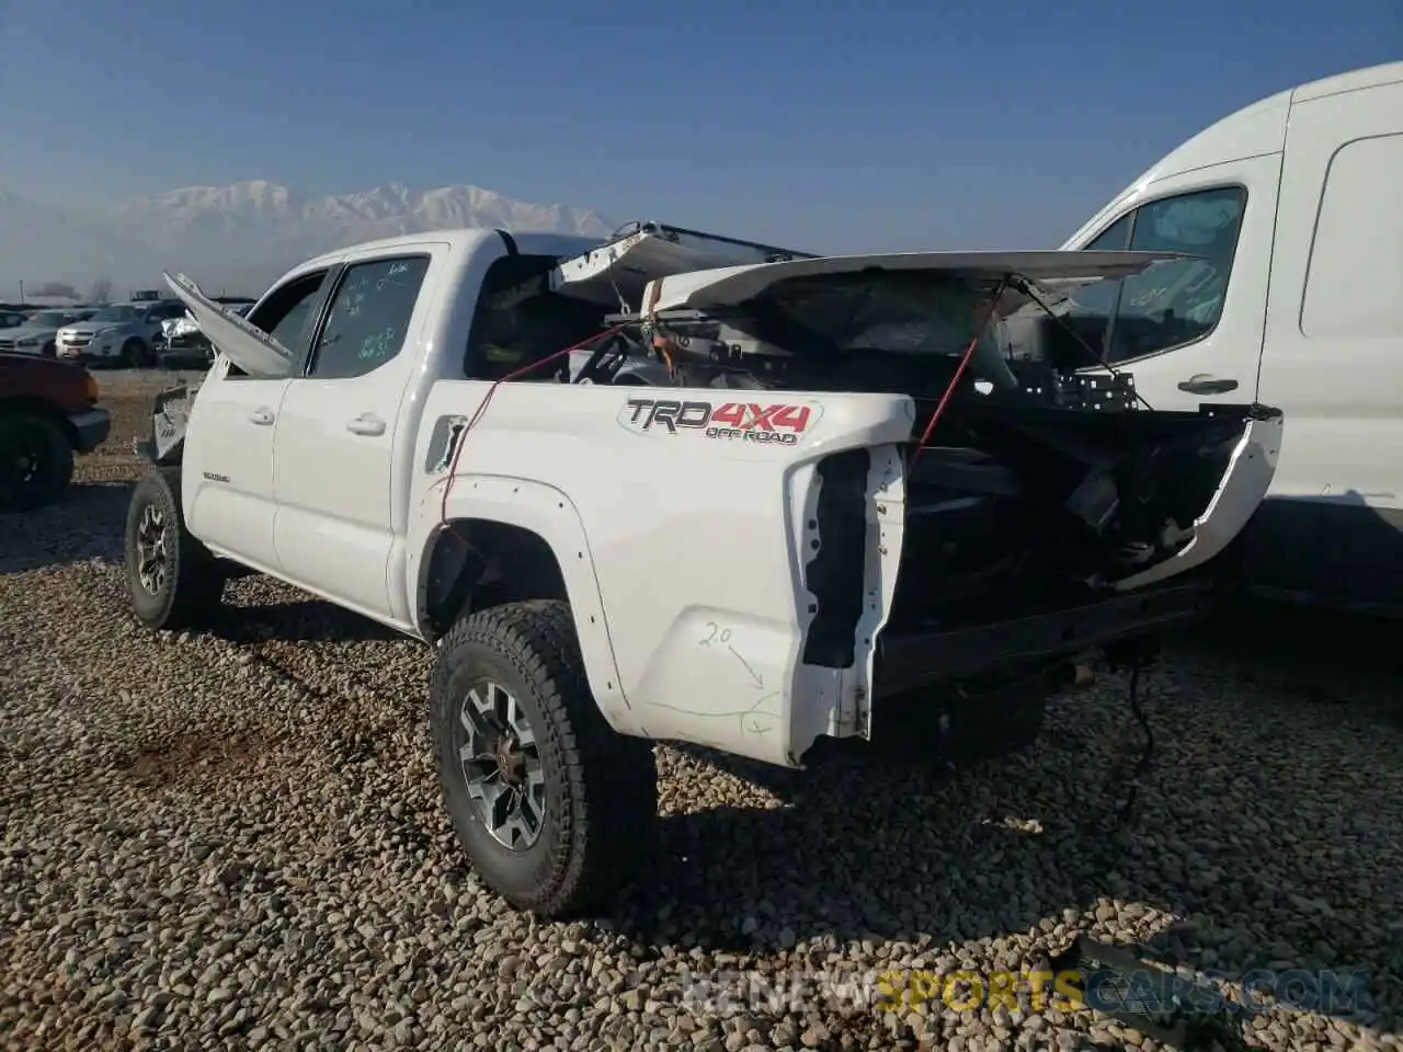
[[[539,923],[455,846],[427,651],[261,578],[209,634],[133,626],[123,449],[160,383],[100,382],[111,449],[60,506],[0,519],[6,1046],[1156,1048],[1048,1003],[871,1000],[880,972],[1040,968],[1076,933],[1230,996],[1254,966],[1368,973],[1348,1017],[1270,1006],[1214,1023],[1223,1048],[1399,1045],[1395,651],[1322,658],[1319,624],[1176,644],[1145,682],[1156,764],[1118,828],[1138,738],[1115,677],[1059,699],[1035,749],[955,774],[661,746],[643,886],[607,919]]]

